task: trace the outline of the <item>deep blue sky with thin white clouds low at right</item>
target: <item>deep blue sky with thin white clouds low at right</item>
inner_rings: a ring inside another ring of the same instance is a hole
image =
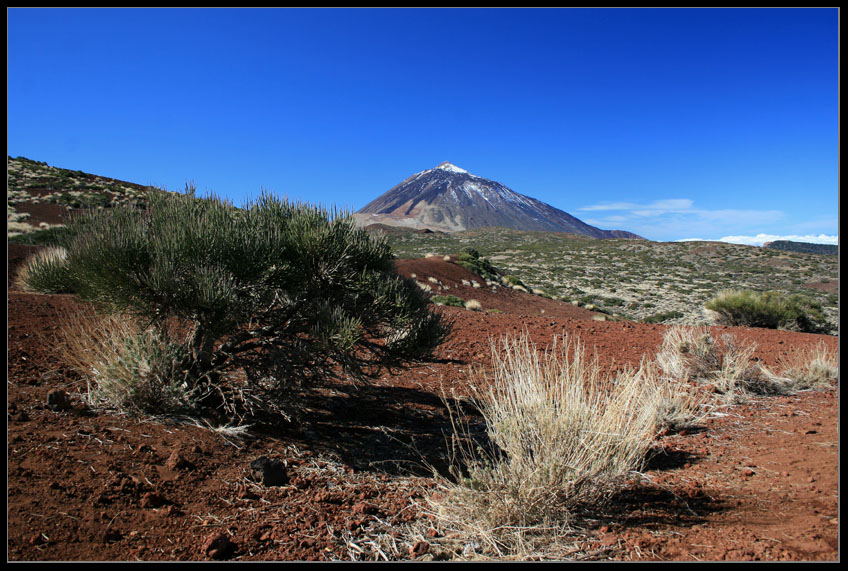
[[[604,229],[838,235],[833,9],[8,9],[8,154],[351,210],[450,161]]]

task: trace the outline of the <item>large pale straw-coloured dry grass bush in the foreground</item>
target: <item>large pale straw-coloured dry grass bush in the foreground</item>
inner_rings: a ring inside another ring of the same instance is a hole
[[[485,438],[454,417],[455,481],[441,481],[432,507],[500,551],[614,492],[645,459],[659,393],[651,367],[609,377],[579,342],[540,355],[526,337],[506,339],[492,362],[491,379],[472,378]]]

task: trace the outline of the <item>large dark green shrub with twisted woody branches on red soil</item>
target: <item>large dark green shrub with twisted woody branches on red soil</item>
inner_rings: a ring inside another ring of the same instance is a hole
[[[184,324],[185,382],[205,407],[237,419],[293,384],[429,357],[450,331],[385,240],[349,216],[265,193],[243,209],[193,188],[147,198],[70,220],[70,280],[160,332]]]

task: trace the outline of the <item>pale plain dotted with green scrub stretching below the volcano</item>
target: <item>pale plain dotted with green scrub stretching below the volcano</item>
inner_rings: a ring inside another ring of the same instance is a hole
[[[634,321],[705,325],[704,304],[729,289],[799,294],[838,323],[835,256],[718,242],[598,240],[575,234],[482,228],[452,234],[398,232],[386,239],[399,258],[468,248],[528,291]],[[827,288],[811,286],[828,285]],[[830,291],[828,291],[830,290]]]

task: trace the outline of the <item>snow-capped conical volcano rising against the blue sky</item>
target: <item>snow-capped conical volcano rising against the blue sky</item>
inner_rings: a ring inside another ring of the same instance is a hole
[[[366,226],[388,224],[445,232],[502,226],[594,238],[640,238],[630,232],[590,226],[567,212],[449,162],[412,175],[366,204],[355,216]]]

